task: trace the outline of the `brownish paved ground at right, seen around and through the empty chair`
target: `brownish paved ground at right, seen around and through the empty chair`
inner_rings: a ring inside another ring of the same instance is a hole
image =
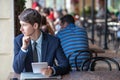
[[[88,35],[90,37],[90,35]],[[95,48],[100,48],[100,49],[103,49],[103,42],[101,43],[102,46],[99,45],[99,40],[98,40],[98,37],[95,36],[95,44],[94,46],[97,46]],[[103,41],[103,40],[102,40]],[[89,45],[91,45],[91,41],[89,41]],[[91,47],[91,46],[90,46]],[[105,53],[98,53],[98,56],[103,56],[103,57],[110,57],[110,58],[113,58],[115,59],[119,64],[120,64],[120,50],[118,51],[118,53],[116,53],[116,51],[114,50],[114,45],[113,43],[110,43],[108,45],[109,49],[108,50],[105,50]],[[112,67],[114,70],[116,70],[116,66],[112,63]],[[96,68],[95,70],[109,70],[108,69],[108,65],[103,62],[103,61],[98,61],[96,63]]]

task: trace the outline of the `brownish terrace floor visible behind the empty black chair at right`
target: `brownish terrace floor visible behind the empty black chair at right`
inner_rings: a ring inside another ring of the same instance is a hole
[[[90,38],[91,35],[90,33],[88,33],[88,37]],[[104,50],[104,53],[98,53],[97,56],[99,57],[110,57],[115,59],[119,64],[120,64],[120,48],[118,49],[118,52],[116,53],[116,50],[114,48],[114,45],[112,42],[108,43],[108,49],[103,49],[104,47],[104,36],[102,36],[102,40],[101,40],[101,44],[99,44],[99,37],[95,35],[95,46],[97,46],[98,48]],[[94,46],[91,41],[89,41],[89,47],[93,47]],[[96,47],[95,47],[96,48]],[[98,61],[97,69],[96,70],[108,70],[108,65],[103,62],[103,61]],[[112,63],[112,67],[113,69],[116,69],[116,66]]]

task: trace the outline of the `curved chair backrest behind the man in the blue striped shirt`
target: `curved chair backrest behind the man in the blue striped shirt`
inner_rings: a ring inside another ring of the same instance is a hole
[[[83,61],[91,58],[93,53],[90,50],[78,50],[69,54],[68,59],[71,65],[71,70],[80,71]]]

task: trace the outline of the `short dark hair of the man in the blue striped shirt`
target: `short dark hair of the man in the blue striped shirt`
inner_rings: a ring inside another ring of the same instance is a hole
[[[74,24],[74,23],[75,23],[75,20],[74,20],[73,16],[70,15],[70,14],[67,14],[67,15],[61,17],[60,20],[61,20],[61,22],[62,22],[63,24],[64,24],[65,22],[67,22],[68,24],[70,24],[70,23],[73,23],[73,24]]]

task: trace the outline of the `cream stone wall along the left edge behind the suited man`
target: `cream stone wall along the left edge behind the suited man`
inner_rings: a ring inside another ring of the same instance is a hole
[[[12,72],[13,59],[13,0],[0,0],[0,80],[6,80]]]

